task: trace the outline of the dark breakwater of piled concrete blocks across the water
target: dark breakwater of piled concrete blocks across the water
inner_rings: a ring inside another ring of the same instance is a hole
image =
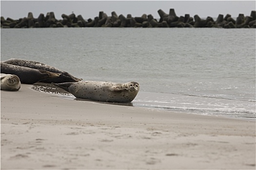
[[[200,18],[198,15],[191,17],[189,14],[178,17],[174,9],[170,9],[169,14],[163,10],[158,10],[160,19],[155,19],[151,14],[143,14],[141,17],[132,17],[128,14],[126,17],[117,15],[115,11],[108,16],[100,11],[97,17],[84,19],[81,15],[76,16],[74,13],[70,15],[62,14],[62,19],[56,19],[54,12],[48,12],[46,16],[40,14],[34,18],[31,12],[27,17],[20,19],[12,19],[1,17],[1,28],[55,28],[55,27],[189,27],[189,28],[256,28],[256,11],[251,11],[250,16],[239,14],[234,19],[227,14],[225,17],[219,14],[217,19],[207,17]]]

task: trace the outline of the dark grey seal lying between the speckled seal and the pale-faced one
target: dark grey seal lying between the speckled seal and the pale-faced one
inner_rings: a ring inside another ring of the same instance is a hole
[[[41,69],[26,68],[1,62],[1,73],[14,74],[20,78],[21,84],[32,85],[39,81],[59,77],[60,73],[53,73]]]

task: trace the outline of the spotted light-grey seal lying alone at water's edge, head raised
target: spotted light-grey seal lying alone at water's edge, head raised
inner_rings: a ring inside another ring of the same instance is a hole
[[[111,82],[67,82],[54,85],[70,92],[76,98],[100,102],[132,102],[138,94],[139,84]]]

